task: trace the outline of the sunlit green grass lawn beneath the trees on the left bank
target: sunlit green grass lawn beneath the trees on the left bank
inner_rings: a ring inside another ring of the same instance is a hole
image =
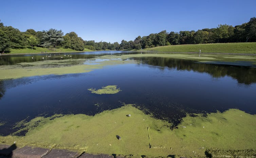
[[[42,47],[20,47],[20,49],[11,49],[10,54],[19,54],[19,53],[41,53],[41,52],[78,52],[70,48],[42,48]],[[84,51],[89,52],[92,50],[84,49]]]

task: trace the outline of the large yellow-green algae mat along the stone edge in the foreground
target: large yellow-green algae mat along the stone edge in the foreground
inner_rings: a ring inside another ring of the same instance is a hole
[[[131,114],[127,117],[127,114]],[[132,105],[84,114],[37,117],[23,123],[25,136],[0,137],[1,142],[26,144],[95,154],[134,156],[205,156],[206,149],[256,149],[256,115],[237,109],[211,113],[207,117],[186,116],[175,129]],[[21,129],[22,131],[22,129]],[[117,139],[116,135],[122,137]]]

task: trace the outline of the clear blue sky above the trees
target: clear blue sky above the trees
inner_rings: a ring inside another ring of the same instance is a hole
[[[0,6],[5,26],[74,31],[84,40],[110,43],[162,30],[236,26],[256,17],[256,0],[1,0]]]

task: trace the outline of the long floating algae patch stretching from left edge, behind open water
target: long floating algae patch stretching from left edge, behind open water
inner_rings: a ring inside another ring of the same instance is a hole
[[[85,59],[47,60],[37,62],[24,62],[15,65],[0,65],[0,79],[21,78],[40,75],[62,75],[86,73],[95,69],[102,69],[108,65],[134,63],[134,61],[109,60],[97,65],[83,64]]]

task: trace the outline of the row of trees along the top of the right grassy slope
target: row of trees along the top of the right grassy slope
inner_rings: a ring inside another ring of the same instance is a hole
[[[120,49],[144,49],[158,46],[206,44],[206,43],[233,43],[256,42],[256,18],[249,22],[233,27],[232,25],[218,25],[217,28],[205,28],[198,31],[180,31],[151,33],[148,36],[138,36],[134,41],[123,40]]]

